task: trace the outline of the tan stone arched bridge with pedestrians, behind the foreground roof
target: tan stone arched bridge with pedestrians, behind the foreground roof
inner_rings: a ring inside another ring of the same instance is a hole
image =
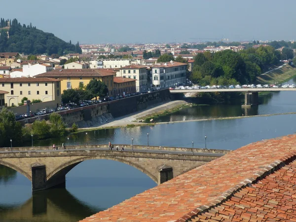
[[[32,190],[66,185],[66,174],[89,159],[109,159],[131,165],[162,184],[230,150],[113,145],[1,148],[0,164],[23,174],[32,182]],[[116,150],[118,147],[118,151]],[[119,151],[124,147],[124,151]],[[87,172],[86,172],[87,173]]]

